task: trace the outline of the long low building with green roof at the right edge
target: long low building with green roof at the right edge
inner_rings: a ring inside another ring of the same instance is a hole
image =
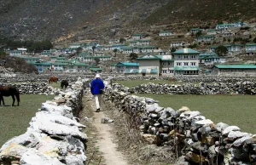
[[[224,76],[256,76],[256,65],[213,65],[212,74]]]

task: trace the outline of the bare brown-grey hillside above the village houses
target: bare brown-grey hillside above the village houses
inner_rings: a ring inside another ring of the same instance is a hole
[[[0,37],[69,42],[254,21],[253,0],[0,0]],[[176,23],[183,23],[183,29]],[[159,31],[160,29],[158,29]]]

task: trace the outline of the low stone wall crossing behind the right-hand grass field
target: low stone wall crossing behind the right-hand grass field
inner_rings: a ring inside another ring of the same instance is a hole
[[[231,83],[147,83],[131,88],[137,94],[256,94],[256,82],[243,81]]]

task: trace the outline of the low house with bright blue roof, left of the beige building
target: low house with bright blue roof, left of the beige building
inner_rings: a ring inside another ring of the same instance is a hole
[[[139,68],[138,63],[132,63],[132,62],[119,62],[115,65],[115,71],[118,73],[130,73],[133,70],[137,71]]]

